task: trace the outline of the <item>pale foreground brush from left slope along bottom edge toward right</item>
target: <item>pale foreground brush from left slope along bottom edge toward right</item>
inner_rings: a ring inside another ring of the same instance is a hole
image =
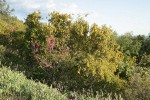
[[[28,80],[23,73],[11,71],[1,65],[0,68],[0,98],[17,100],[123,100],[121,95],[104,94],[102,91],[93,95],[93,91],[66,92],[62,95],[57,89],[40,82]]]

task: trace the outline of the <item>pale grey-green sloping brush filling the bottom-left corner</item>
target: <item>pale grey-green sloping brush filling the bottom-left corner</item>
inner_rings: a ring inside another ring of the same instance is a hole
[[[20,97],[21,96],[21,97]],[[27,80],[23,73],[0,68],[0,97],[22,98],[30,100],[66,100],[56,89],[40,82]]]

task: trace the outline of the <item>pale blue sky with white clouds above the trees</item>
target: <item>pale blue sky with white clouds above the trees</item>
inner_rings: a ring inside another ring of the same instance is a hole
[[[150,0],[7,0],[14,15],[24,19],[33,11],[46,17],[52,11],[70,14],[88,13],[86,20],[99,26],[106,24],[118,34],[150,33]]]

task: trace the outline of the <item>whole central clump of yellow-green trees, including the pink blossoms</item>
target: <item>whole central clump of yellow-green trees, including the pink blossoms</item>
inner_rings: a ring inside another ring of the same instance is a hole
[[[41,66],[55,68],[56,76],[61,73],[60,76],[68,77],[73,72],[67,81],[78,85],[77,78],[91,75],[96,82],[122,83],[114,73],[123,62],[123,54],[110,28],[96,24],[89,27],[82,18],[72,21],[70,15],[58,12],[51,13],[49,24],[41,23],[40,18],[39,12],[28,15],[24,39],[31,50],[28,53],[33,54]],[[55,42],[48,42],[52,37]],[[53,45],[51,49],[49,44]],[[61,70],[64,72],[59,72]]]

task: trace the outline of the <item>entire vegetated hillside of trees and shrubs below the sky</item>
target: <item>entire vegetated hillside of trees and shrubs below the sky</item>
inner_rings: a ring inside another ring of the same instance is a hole
[[[11,11],[0,0],[1,98],[150,100],[150,36],[57,11],[23,22]]]

